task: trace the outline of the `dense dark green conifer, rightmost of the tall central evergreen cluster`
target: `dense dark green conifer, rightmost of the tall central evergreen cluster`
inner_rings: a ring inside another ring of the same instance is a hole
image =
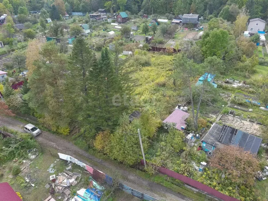
[[[91,93],[88,107],[90,118],[88,120],[95,125],[114,128],[127,106],[123,103],[124,84],[115,72],[106,47],[102,49],[98,65],[92,62],[90,75]]]

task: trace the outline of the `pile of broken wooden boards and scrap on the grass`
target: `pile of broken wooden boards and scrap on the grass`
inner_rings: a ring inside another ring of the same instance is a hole
[[[64,172],[50,176],[50,183],[46,184],[46,188],[50,188],[49,193],[61,193],[64,197],[64,201],[70,198],[70,187],[75,186],[81,179],[81,174],[76,172],[70,172],[72,166],[68,166]],[[47,198],[48,199],[48,198]],[[51,199],[47,201],[53,201]]]

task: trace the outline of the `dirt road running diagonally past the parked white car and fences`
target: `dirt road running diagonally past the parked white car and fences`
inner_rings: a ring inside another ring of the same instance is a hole
[[[8,128],[23,132],[24,123],[10,117],[0,116],[0,126],[6,126]],[[46,148],[54,148],[63,154],[71,155],[72,157],[84,162],[85,164],[92,166],[106,174],[113,176],[117,175],[118,178],[131,188],[137,191],[143,192],[150,195],[156,199],[163,199],[169,201],[191,201],[192,199],[187,198],[181,194],[175,193],[172,190],[146,179],[136,176],[135,171],[129,171],[127,168],[121,164],[113,164],[112,162],[103,161],[98,159],[86,151],[83,151],[76,147],[74,144],[64,140],[63,138],[56,136],[52,133],[43,131],[36,140]]]

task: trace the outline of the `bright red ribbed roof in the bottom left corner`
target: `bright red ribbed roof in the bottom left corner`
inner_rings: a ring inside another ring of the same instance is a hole
[[[0,183],[0,189],[0,201],[22,201],[7,182]]]

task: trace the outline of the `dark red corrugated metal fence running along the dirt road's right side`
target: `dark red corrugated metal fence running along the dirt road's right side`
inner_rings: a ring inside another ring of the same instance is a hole
[[[141,163],[144,165],[143,160],[141,161]],[[219,198],[219,199],[222,199],[222,200],[225,200],[225,201],[240,201],[240,200],[238,200],[236,198],[233,198],[233,197],[230,197],[228,195],[225,195],[225,194],[223,194],[223,193],[221,193],[221,192],[219,192],[219,191],[217,191],[217,190],[215,190],[215,189],[213,189],[213,188],[211,188],[211,187],[209,187],[209,186],[207,186],[205,184],[202,184],[199,181],[193,180],[193,179],[191,179],[189,177],[186,177],[186,176],[184,176],[182,174],[174,172],[174,171],[172,171],[170,169],[160,167],[159,172],[162,173],[162,174],[165,174],[165,175],[167,175],[169,177],[173,177],[175,179],[178,179],[178,180],[184,182],[185,184],[188,184],[188,185],[190,185],[190,186],[192,186],[194,188],[197,188],[197,189],[199,189],[201,191],[204,191],[204,192],[206,192],[206,193],[208,193],[210,195],[213,195],[216,198]]]

